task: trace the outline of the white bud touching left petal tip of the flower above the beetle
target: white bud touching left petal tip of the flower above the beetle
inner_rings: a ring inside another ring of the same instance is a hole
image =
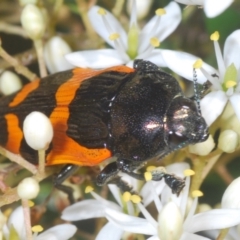
[[[60,37],[52,37],[44,46],[44,60],[50,73],[56,73],[73,68],[65,55],[71,53],[69,45]]]

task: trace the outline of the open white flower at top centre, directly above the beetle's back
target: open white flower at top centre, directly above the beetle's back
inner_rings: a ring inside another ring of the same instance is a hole
[[[121,64],[132,66],[136,58],[149,60],[165,67],[161,50],[155,49],[167,38],[181,21],[181,10],[171,2],[154,16],[140,31],[137,24],[136,1],[133,1],[129,31],[107,10],[93,6],[88,12],[95,31],[113,49],[86,50],[66,55],[67,60],[78,67],[106,68]]]

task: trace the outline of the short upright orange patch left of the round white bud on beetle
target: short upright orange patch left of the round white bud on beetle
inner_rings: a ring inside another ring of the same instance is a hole
[[[12,153],[19,153],[21,141],[23,138],[23,132],[19,127],[18,117],[15,114],[6,114],[5,119],[7,121],[8,141],[5,148]]]

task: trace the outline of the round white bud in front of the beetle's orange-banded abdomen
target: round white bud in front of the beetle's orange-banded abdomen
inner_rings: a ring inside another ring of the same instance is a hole
[[[53,138],[53,127],[43,113],[31,112],[23,122],[23,133],[31,148],[46,150]]]

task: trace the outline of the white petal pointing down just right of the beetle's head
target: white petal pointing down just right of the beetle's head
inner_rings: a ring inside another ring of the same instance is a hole
[[[226,94],[220,90],[210,92],[201,100],[202,116],[208,126],[210,126],[222,113],[226,103]]]

